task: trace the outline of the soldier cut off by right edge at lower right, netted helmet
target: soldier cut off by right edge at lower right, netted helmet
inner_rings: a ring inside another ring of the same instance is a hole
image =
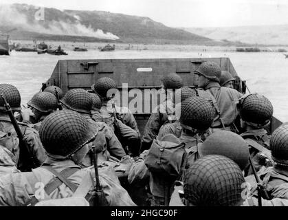
[[[270,148],[274,166],[263,167],[258,177],[266,188],[270,199],[288,199],[288,125],[279,126],[271,136]],[[252,186],[252,195],[256,192],[256,181],[253,175],[246,177]]]

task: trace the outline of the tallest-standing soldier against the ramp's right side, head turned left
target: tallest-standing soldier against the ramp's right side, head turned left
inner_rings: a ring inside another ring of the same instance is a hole
[[[215,117],[212,128],[231,130],[234,120],[239,115],[236,100],[243,94],[235,89],[219,85],[221,68],[217,63],[204,62],[194,73],[198,75],[198,87],[203,89],[199,90],[199,96],[207,98],[214,105]]]

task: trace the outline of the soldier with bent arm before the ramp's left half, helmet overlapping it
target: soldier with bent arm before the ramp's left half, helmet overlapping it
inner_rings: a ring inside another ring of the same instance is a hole
[[[103,77],[98,79],[92,87],[102,100],[100,112],[93,111],[93,120],[107,122],[117,135],[122,146],[124,146],[124,149],[128,148],[126,153],[131,154],[133,157],[139,156],[141,145],[140,131],[133,114],[126,107],[118,107],[111,100],[111,97],[107,96],[109,89],[118,88],[115,81],[111,78]]]

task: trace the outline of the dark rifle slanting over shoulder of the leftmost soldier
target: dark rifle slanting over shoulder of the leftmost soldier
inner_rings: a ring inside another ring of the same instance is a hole
[[[5,99],[4,95],[1,94],[1,98],[4,102],[4,107],[9,115],[9,118],[14,126],[14,129],[16,131],[16,134],[19,138],[19,162],[21,164],[19,165],[19,170],[23,171],[28,171],[31,170],[31,168],[36,168],[35,160],[32,155],[32,153],[29,150],[29,147],[27,146],[27,143],[24,141],[23,134],[21,132],[21,129],[19,127],[19,124],[16,122],[16,119],[14,117],[13,111],[10,107],[10,104],[7,102]],[[27,166],[24,165],[24,161],[27,159]]]

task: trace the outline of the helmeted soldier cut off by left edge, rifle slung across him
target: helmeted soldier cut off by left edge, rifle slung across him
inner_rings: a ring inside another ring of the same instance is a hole
[[[0,94],[3,94],[13,112],[21,111],[21,96],[16,87],[10,84],[0,84]],[[33,158],[36,165],[41,166],[46,159],[46,154],[39,138],[38,131],[30,128],[27,124],[21,122],[18,122],[18,124],[22,131],[24,141],[27,143],[27,147],[29,148],[30,156]],[[14,161],[16,167],[21,169],[21,171],[23,171],[23,167],[25,167],[25,170],[30,170],[31,167],[29,168],[26,166],[27,164],[25,164],[25,158],[20,157],[22,159],[19,159],[19,154],[21,153],[19,148],[19,139],[4,107],[2,98],[0,98],[0,127],[2,133],[1,143],[3,144],[3,147],[10,151],[10,157]]]

